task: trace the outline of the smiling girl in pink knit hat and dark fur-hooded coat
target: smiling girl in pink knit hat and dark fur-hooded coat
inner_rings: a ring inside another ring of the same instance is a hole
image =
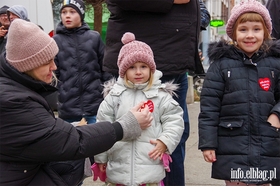
[[[212,178],[226,185],[269,185],[280,175],[280,42],[273,42],[267,9],[257,1],[231,11],[233,45],[211,43],[200,98],[199,144]]]

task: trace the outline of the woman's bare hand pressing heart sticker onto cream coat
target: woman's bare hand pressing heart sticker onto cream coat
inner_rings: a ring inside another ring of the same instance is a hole
[[[148,105],[145,105],[145,108],[141,112],[138,112],[138,110],[143,106],[143,104],[144,101],[141,101],[140,103],[138,103],[130,109],[130,112],[133,113],[133,115],[136,117],[141,129],[145,129],[149,126],[152,126],[151,122],[153,120]]]

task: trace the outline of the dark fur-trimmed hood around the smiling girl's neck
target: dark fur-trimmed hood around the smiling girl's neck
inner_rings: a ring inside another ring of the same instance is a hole
[[[265,53],[261,49],[258,53],[262,53],[263,57],[265,56],[280,56],[280,40],[267,42],[267,46],[269,47],[269,52]],[[243,51],[240,51],[233,44],[230,44],[230,41],[226,40],[219,40],[215,42],[210,42],[208,44],[207,55],[209,58],[209,63],[211,64],[213,61],[220,59],[221,57],[230,57],[233,59],[240,58],[246,56]]]

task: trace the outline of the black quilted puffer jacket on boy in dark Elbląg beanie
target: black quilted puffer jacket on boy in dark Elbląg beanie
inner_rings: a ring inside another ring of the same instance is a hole
[[[100,34],[90,30],[83,21],[81,27],[67,29],[58,24],[54,40],[59,52],[54,58],[58,80],[58,115],[62,119],[96,115],[103,82],[110,73],[102,70],[104,43]]]

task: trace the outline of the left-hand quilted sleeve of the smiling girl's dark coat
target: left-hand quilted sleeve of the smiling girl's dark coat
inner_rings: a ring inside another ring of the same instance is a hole
[[[225,81],[215,63],[211,64],[203,82],[198,116],[198,149],[216,150],[218,124]]]

